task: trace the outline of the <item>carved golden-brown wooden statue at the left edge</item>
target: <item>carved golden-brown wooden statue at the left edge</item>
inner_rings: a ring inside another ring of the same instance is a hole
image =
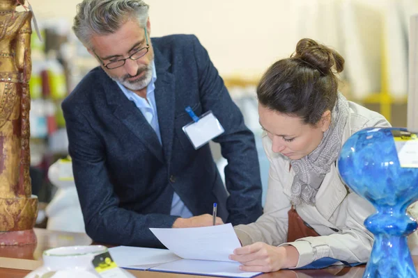
[[[0,245],[36,243],[38,198],[29,177],[31,12],[0,0]]]

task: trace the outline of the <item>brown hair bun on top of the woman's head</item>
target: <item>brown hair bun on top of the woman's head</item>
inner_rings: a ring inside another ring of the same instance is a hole
[[[333,67],[336,72],[344,69],[344,58],[337,51],[308,38],[297,42],[293,57],[316,67],[323,74],[332,74]]]

